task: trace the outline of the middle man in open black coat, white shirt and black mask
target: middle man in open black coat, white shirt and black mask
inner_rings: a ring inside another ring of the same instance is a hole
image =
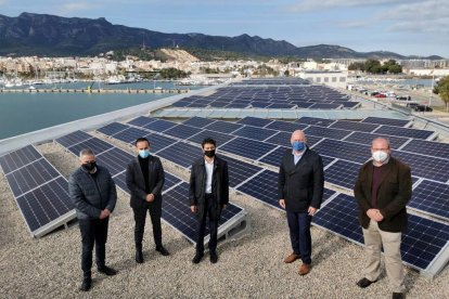
[[[196,253],[192,262],[198,263],[204,256],[204,232],[208,218],[210,262],[216,263],[218,222],[221,210],[229,203],[228,162],[215,155],[215,140],[206,138],[202,147],[204,156],[194,161],[190,174],[190,209],[198,219]]]

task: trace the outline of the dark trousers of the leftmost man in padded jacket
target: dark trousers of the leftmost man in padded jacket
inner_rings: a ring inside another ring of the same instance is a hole
[[[108,222],[110,218],[78,220],[82,240],[81,269],[86,277],[91,276],[93,245],[95,245],[97,266],[102,268],[105,264]]]

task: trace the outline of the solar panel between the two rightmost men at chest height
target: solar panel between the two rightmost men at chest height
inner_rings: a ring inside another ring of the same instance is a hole
[[[324,171],[324,179],[331,184],[352,190],[360,167],[360,164],[337,160]]]

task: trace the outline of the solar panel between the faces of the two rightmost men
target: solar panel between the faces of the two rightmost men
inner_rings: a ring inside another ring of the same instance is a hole
[[[371,158],[371,146],[325,139],[312,147],[319,154],[363,164]]]

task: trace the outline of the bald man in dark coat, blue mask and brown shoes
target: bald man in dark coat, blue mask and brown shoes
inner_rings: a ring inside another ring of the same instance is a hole
[[[320,208],[323,197],[323,162],[319,154],[306,145],[302,130],[292,133],[293,150],[287,150],[279,168],[279,205],[285,209],[293,252],[285,263],[303,260],[299,274],[310,272],[311,235],[310,223]]]

